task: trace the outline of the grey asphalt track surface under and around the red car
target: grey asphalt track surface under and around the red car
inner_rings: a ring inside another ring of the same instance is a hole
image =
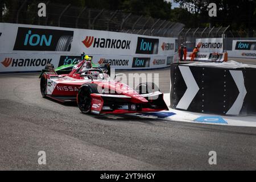
[[[148,72],[159,73],[169,92],[169,69]],[[85,115],[42,98],[39,81],[38,74],[0,75],[1,170],[256,169],[255,127]],[[209,165],[209,151],[217,165]]]

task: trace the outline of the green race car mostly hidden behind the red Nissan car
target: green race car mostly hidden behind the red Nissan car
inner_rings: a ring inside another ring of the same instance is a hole
[[[72,70],[76,68],[76,65],[79,64],[81,61],[82,61],[81,59],[74,59],[71,64],[61,65],[60,67],[55,68],[55,71],[59,75],[68,74],[68,73],[72,72]],[[50,67],[54,68],[54,65],[47,64],[46,67],[44,69],[42,69],[42,72],[41,72],[39,78],[42,77],[44,72],[48,72]],[[110,76],[110,65],[108,63],[95,64],[92,62],[92,67],[106,69],[108,71],[108,75]]]

